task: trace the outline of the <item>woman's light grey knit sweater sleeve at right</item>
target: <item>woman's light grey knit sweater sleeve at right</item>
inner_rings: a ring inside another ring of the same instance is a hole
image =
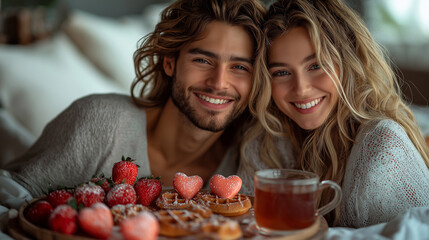
[[[347,162],[339,226],[364,227],[429,206],[429,170],[403,128],[382,120],[364,126]]]

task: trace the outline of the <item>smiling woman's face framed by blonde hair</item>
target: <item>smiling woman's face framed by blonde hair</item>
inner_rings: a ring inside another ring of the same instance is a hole
[[[338,92],[317,62],[306,28],[291,28],[273,39],[268,68],[277,107],[303,129],[320,127],[336,106]]]

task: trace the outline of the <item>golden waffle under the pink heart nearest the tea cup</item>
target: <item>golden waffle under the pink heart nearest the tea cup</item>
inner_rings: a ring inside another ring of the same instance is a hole
[[[194,199],[197,203],[208,206],[214,213],[227,217],[242,215],[252,207],[249,197],[243,194],[221,198],[210,192],[199,192]]]

